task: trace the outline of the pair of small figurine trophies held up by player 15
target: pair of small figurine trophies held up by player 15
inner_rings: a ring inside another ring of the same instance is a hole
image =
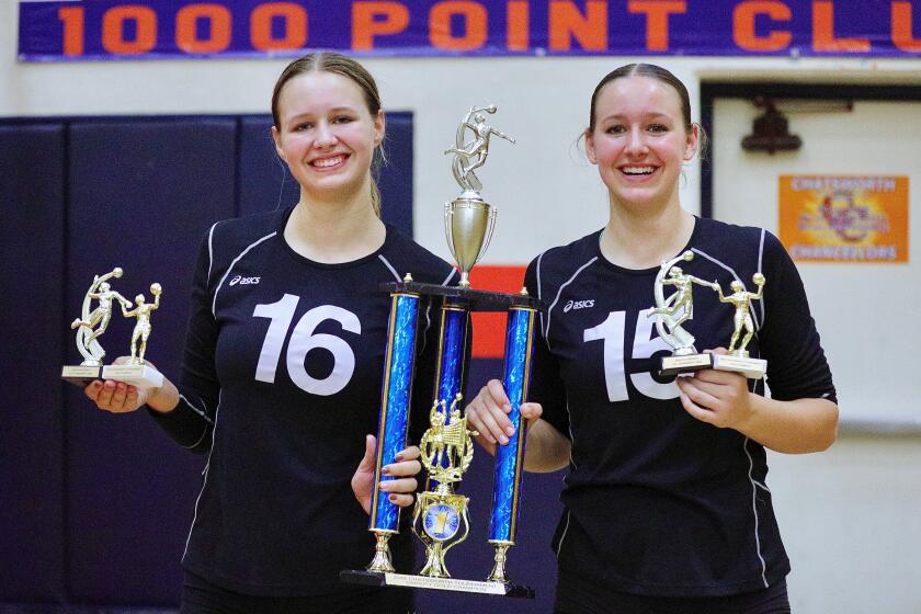
[[[659,373],[678,375],[702,368],[716,368],[742,373],[752,379],[763,377],[768,361],[750,357],[746,346],[754,333],[749,305],[752,299],[757,300],[763,296],[764,275],[755,273],[752,277],[758,286],[757,294],[746,292],[742,283],[736,280],[730,284],[732,294],[725,296],[723,288],[716,282],[707,282],[685,273],[678,266],[682,260],[691,262],[694,260],[694,252],[687,250],[663,262],[653,284],[656,306],[649,311],[649,317],[656,318],[659,337],[672,346],[672,355],[661,360]],[[694,349],[694,337],[682,328],[682,325],[694,316],[694,284],[716,291],[720,303],[729,303],[735,307],[735,330],[727,354],[697,353]],[[664,286],[668,285],[674,286],[674,292],[666,298]],[[744,336],[742,336],[742,329],[744,329]]]

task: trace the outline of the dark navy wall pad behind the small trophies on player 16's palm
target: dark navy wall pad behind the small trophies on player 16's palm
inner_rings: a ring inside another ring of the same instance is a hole
[[[79,311],[94,273],[134,299],[163,286],[148,360],[178,376],[200,239],[234,215],[236,122],[75,123],[70,128],[67,298]],[[76,315],[76,314],[75,314]],[[133,320],[113,318],[107,360],[128,353]],[[76,359],[76,350],[71,352]],[[172,603],[204,458],[146,416],[95,410],[68,390],[66,453],[69,596],[89,603]]]

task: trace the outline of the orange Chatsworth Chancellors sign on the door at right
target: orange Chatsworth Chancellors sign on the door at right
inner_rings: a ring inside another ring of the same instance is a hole
[[[780,238],[799,262],[908,262],[908,178],[782,175]]]

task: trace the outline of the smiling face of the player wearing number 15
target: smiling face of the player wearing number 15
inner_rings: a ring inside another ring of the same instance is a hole
[[[594,100],[585,154],[607,186],[611,205],[624,209],[679,207],[682,163],[697,150],[675,89],[653,77],[627,76],[606,83]]]

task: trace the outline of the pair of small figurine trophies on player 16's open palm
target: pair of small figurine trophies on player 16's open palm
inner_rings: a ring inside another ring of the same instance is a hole
[[[115,379],[132,386],[151,388],[163,384],[163,374],[144,362],[147,351],[147,338],[150,337],[150,317],[160,307],[160,284],[150,285],[154,303],[147,303],[143,294],[135,297],[135,304],[112,289],[110,280],[121,278],[122,269],[114,268],[109,273],[93,276],[90,288],[83,295],[80,317],[70,323],[77,331],[77,350],[83,356],[79,365],[68,365],[61,369],[61,378],[76,386],[84,387],[94,379]],[[96,306],[91,309],[93,300]],[[137,322],[132,332],[130,357],[124,364],[107,365],[103,363],[105,350],[99,343],[99,338],[112,321],[113,303],[122,307],[122,316],[136,318]]]

